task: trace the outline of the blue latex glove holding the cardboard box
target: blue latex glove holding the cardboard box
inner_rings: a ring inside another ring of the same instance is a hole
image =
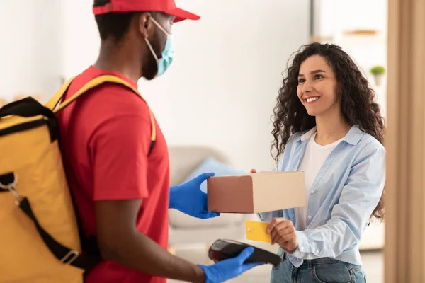
[[[214,175],[215,173],[203,173],[186,183],[170,187],[169,208],[200,219],[219,216],[217,212],[208,211],[207,194],[200,190],[200,184]]]

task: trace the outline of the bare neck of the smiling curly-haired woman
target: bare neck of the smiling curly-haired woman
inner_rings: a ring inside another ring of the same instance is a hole
[[[316,142],[320,145],[331,144],[342,139],[351,129],[340,111],[328,112],[316,117]]]

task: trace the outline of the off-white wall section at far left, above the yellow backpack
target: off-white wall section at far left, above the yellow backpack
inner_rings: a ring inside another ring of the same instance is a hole
[[[61,16],[57,0],[0,1],[1,98],[10,101],[18,93],[50,96],[60,86]]]

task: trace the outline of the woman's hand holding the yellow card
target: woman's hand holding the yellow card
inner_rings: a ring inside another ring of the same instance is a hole
[[[288,253],[298,248],[297,234],[293,223],[284,218],[273,218],[268,224],[267,233],[271,234],[271,244],[277,243]]]

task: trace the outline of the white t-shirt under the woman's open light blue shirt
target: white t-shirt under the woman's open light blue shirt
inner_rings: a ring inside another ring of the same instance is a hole
[[[314,183],[314,179],[316,178],[317,173],[319,173],[320,168],[324,161],[326,161],[329,154],[331,154],[332,150],[339,144],[339,142],[344,139],[339,139],[338,141],[334,141],[331,144],[327,144],[325,146],[321,146],[316,143],[314,140],[316,138],[316,133],[310,137],[310,141],[307,145],[307,149],[305,150],[304,157],[300,163],[300,168],[298,171],[304,171],[305,176],[305,200],[308,205],[308,198],[310,194],[314,193],[312,191],[312,185]],[[297,207],[295,208],[295,217],[297,219],[297,230],[305,230],[307,229],[307,225],[305,224],[307,221],[307,207]]]

